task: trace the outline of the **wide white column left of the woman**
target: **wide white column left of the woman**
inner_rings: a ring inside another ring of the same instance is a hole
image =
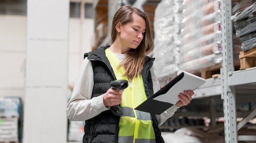
[[[27,1],[24,143],[66,143],[69,0]]]

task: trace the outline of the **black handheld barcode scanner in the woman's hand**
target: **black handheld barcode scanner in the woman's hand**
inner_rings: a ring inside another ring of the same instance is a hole
[[[118,90],[126,89],[126,87],[128,87],[128,81],[127,80],[113,80],[110,82],[110,86],[113,89],[118,89]],[[112,111],[112,113],[114,113],[117,116],[120,116],[123,114],[123,111],[119,105],[111,106],[110,110]]]

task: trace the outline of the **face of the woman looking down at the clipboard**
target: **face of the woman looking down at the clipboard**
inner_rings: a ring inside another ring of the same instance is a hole
[[[133,22],[120,26],[120,40],[124,48],[136,49],[146,32],[145,20],[137,14],[133,15]]]

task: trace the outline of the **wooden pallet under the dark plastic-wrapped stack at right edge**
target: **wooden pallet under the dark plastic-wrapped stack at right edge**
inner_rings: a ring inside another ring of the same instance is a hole
[[[239,54],[240,70],[255,67],[256,47]]]

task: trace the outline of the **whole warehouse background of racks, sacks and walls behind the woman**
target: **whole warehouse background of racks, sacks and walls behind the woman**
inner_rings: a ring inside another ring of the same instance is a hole
[[[256,0],[0,0],[0,143],[81,143],[66,105],[83,54],[123,5],[150,21],[161,87],[206,79],[159,128],[166,143],[256,143]]]

